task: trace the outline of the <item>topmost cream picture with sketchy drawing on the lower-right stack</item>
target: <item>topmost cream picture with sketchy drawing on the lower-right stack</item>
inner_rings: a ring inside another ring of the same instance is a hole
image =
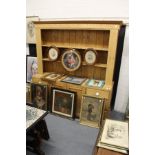
[[[128,122],[106,119],[101,142],[122,148],[128,148]]]

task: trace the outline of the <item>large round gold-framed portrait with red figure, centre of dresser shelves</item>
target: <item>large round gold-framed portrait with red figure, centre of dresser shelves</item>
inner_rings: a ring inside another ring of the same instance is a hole
[[[67,71],[75,71],[81,65],[81,55],[75,49],[68,49],[63,53],[61,62]]]

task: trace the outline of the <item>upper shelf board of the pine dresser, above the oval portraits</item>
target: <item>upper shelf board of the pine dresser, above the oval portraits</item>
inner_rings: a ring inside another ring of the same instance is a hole
[[[42,47],[50,47],[50,46],[52,46],[52,44],[43,44],[42,45]],[[87,48],[89,48],[89,47],[75,47],[75,46],[65,46],[65,45],[63,45],[63,46],[59,46],[59,45],[55,45],[56,47],[58,47],[58,48],[75,48],[75,49],[87,49]],[[92,48],[92,47],[90,47],[90,48]],[[99,51],[108,51],[108,47],[95,47],[94,48],[95,50],[99,50]]]

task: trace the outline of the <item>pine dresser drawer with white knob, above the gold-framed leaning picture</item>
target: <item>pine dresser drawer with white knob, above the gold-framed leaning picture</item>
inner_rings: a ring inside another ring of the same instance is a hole
[[[100,98],[106,98],[106,99],[109,98],[109,92],[104,91],[104,90],[87,88],[86,89],[86,94],[91,95],[91,96],[100,97]]]

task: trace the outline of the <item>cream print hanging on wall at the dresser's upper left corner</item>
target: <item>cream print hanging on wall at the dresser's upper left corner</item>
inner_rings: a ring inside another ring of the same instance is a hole
[[[35,27],[33,21],[39,21],[38,16],[26,17],[26,43],[35,44]]]

